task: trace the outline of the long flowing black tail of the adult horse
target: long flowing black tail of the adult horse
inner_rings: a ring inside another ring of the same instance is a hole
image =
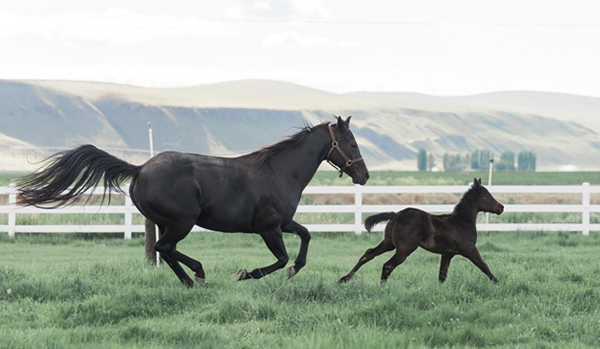
[[[123,193],[119,183],[134,177],[140,169],[91,144],[56,153],[44,162],[38,171],[17,181],[20,204],[44,208],[74,204],[102,178],[102,201],[108,192],[110,202],[110,192]]]

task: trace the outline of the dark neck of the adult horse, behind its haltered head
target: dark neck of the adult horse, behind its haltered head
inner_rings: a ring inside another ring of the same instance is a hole
[[[306,137],[302,145],[286,149],[269,160],[277,176],[300,191],[313,178],[331,145],[327,129],[316,129]]]

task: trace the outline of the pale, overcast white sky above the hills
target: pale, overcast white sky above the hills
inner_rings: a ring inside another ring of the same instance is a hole
[[[600,97],[600,4],[554,0],[11,1],[0,79]]]

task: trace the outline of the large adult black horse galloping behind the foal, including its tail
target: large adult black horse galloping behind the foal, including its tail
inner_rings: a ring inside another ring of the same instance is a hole
[[[121,191],[119,183],[131,178],[131,200],[160,230],[154,248],[185,285],[191,287],[193,281],[179,262],[194,271],[199,283],[205,279],[202,264],[176,248],[194,225],[264,239],[277,261],[251,272],[240,269],[236,280],[259,279],[283,268],[288,255],[282,232],[297,234],[301,243],[288,269],[292,277],[306,264],[310,241],[308,230],[292,218],[321,162],[329,161],[340,177],[345,172],[356,184],[369,179],[349,124],[350,117],[337,117],[337,123],[306,126],[286,140],[235,158],[167,151],[141,166],[83,145],[55,154],[40,171],[21,178],[20,202],[47,208],[68,205],[102,179],[110,200],[110,191]]]

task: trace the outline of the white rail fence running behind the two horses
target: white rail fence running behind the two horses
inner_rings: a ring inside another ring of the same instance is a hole
[[[352,194],[354,205],[300,205],[298,213],[353,213],[354,224],[305,224],[313,232],[355,232],[364,231],[363,213],[377,213],[386,211],[399,211],[406,207],[417,207],[428,212],[450,212],[454,204],[449,205],[365,205],[363,194],[440,194],[463,193],[467,186],[310,186],[304,194]],[[590,186],[583,183],[580,186],[491,186],[488,187],[492,194],[580,194],[581,204],[569,205],[509,205],[505,204],[504,212],[576,212],[581,213],[581,223],[578,224],[477,224],[480,231],[580,231],[589,235],[590,231],[600,231],[600,224],[590,224],[590,213],[600,212],[600,205],[590,204],[590,195],[600,193],[600,186]],[[101,194],[103,188],[97,188],[94,194]],[[20,207],[16,205],[16,191],[13,187],[0,187],[0,195],[8,195],[8,205],[0,206],[0,214],[8,214],[8,224],[0,225],[0,232],[8,232],[9,236],[15,233],[124,233],[126,239],[131,238],[134,232],[143,232],[144,225],[133,225],[133,213],[137,209],[131,199],[125,197],[125,205],[117,206],[71,206],[58,209],[39,209],[36,207]],[[18,214],[45,213],[45,214],[123,214],[123,225],[17,225]],[[383,225],[378,225],[375,230],[381,231]],[[195,227],[194,231],[203,229]]]

